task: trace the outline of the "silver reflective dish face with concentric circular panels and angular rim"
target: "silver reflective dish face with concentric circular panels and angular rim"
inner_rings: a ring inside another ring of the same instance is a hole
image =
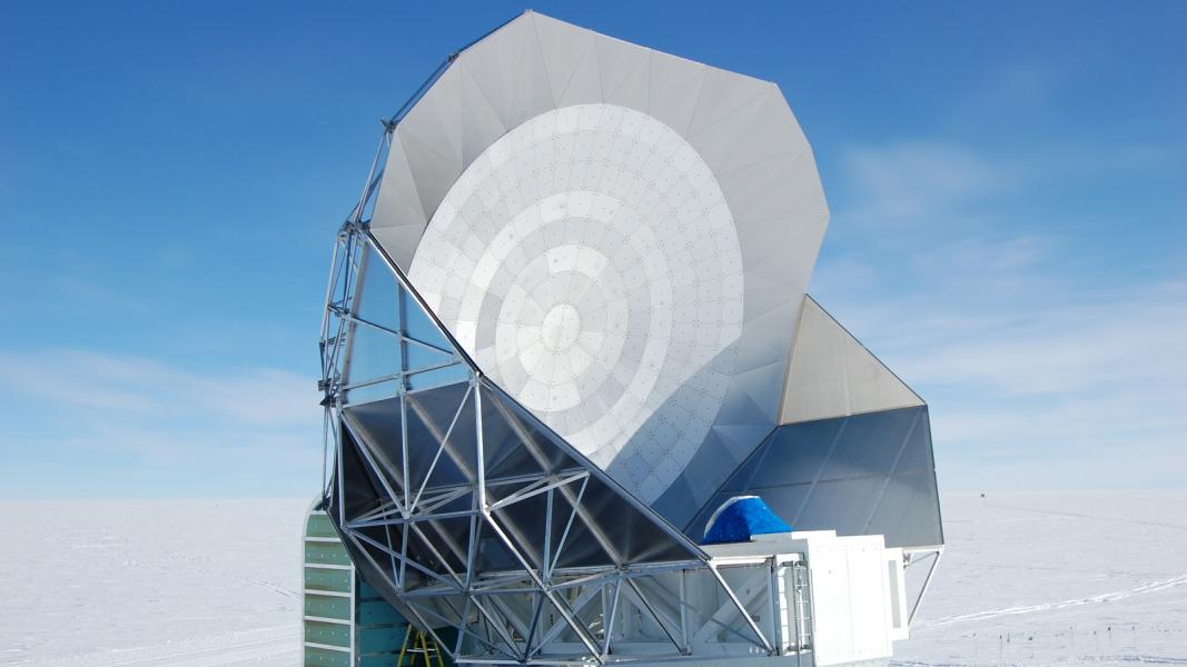
[[[404,115],[372,218],[480,368],[661,510],[777,424],[826,222],[777,87],[534,13]]]

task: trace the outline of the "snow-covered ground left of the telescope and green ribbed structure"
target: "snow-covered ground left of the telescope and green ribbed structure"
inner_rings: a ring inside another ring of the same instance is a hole
[[[0,503],[0,665],[297,666],[307,507]]]

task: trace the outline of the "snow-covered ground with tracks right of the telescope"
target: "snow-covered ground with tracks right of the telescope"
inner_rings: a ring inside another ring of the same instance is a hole
[[[1187,494],[944,498],[900,665],[1187,665]]]

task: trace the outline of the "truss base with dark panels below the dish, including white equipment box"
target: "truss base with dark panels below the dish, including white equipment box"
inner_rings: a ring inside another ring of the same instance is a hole
[[[455,662],[824,666],[906,637],[882,535],[698,546],[484,377],[364,224],[334,267],[325,517]]]

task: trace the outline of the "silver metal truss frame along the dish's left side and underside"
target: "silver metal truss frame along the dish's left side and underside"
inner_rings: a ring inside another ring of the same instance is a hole
[[[324,490],[330,516],[360,572],[458,662],[607,663],[808,650],[806,609],[795,605],[793,636],[786,636],[792,627],[787,612],[783,622],[779,612],[785,582],[807,585],[806,570],[795,570],[802,563],[776,563],[774,557],[711,561],[563,440],[558,446],[569,463],[546,465],[557,456],[544,451],[539,432],[547,432],[554,443],[559,437],[542,424],[527,424],[523,413],[515,412],[518,404],[483,376],[363,220],[373,207],[391,132],[388,126],[362,197],[336,239],[322,320]],[[398,329],[358,312],[369,261],[381,261],[398,285]],[[420,311],[432,336],[418,336],[405,326],[405,309]],[[351,377],[351,351],[360,329],[398,343],[400,358],[393,360],[388,373]],[[417,356],[421,361],[408,354],[412,348],[424,352]],[[377,386],[388,393],[351,399],[353,390]],[[429,437],[413,442],[408,417],[424,411],[418,396],[443,387],[461,393],[452,412],[438,419],[447,426],[433,427],[438,421],[423,419],[421,424],[430,425]],[[377,401],[398,405],[391,418],[399,423],[396,453],[383,451],[392,443],[372,442],[351,411]],[[493,406],[484,407],[487,401]],[[483,420],[491,414],[515,433],[520,452],[539,463],[538,469],[488,475]],[[471,419],[472,425],[463,424]],[[462,430],[472,442],[459,442]],[[413,455],[430,462],[419,479],[410,469]],[[347,457],[351,470],[364,472],[348,471]],[[464,482],[434,483],[434,472],[445,466],[461,471]],[[351,475],[364,479],[348,478]],[[348,502],[348,487],[356,482],[373,489],[362,509]],[[675,545],[683,555],[660,560],[626,555],[621,538],[611,534],[616,527],[595,516],[594,487],[602,494],[598,502],[612,501],[622,512],[642,515],[653,523],[655,539]],[[542,532],[526,534],[508,519],[508,513],[523,508],[534,517],[541,514],[541,504]],[[596,542],[603,558],[566,565],[565,558],[576,548],[575,532]],[[484,560],[483,552],[491,551],[503,557],[501,567]],[[456,633],[452,641],[446,641],[444,628]]]

